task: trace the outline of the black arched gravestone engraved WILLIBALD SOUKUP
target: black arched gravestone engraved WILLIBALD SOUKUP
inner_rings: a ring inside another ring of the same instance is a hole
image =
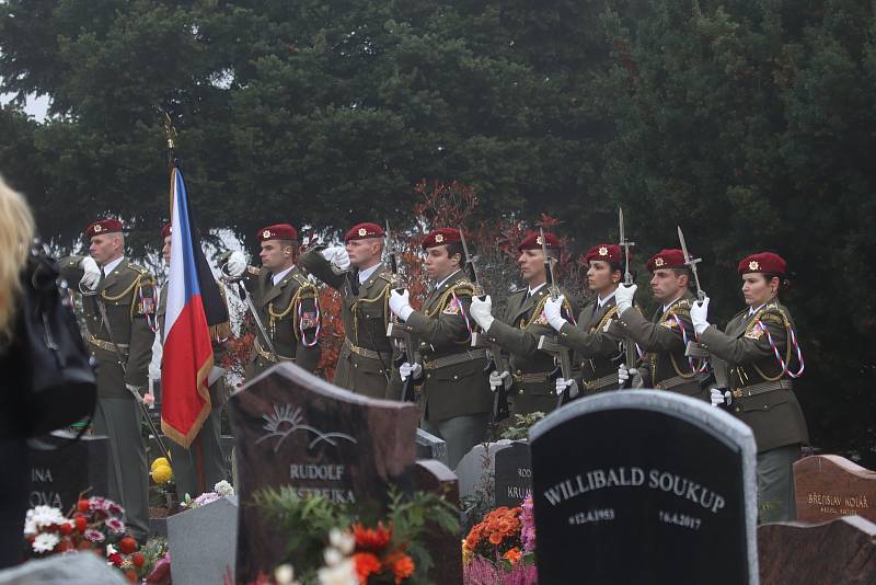
[[[758,583],[754,438],[730,414],[611,392],[551,413],[529,438],[541,585]]]

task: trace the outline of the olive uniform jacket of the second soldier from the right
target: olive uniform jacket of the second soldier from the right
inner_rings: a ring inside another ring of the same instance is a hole
[[[684,355],[685,340],[696,340],[691,323],[693,301],[694,297],[689,290],[666,311],[659,307],[650,321],[635,308],[627,309],[610,331],[632,337],[645,352],[639,372],[646,388],[670,390],[708,401],[708,389],[700,385],[704,376],[691,368],[691,363]]]

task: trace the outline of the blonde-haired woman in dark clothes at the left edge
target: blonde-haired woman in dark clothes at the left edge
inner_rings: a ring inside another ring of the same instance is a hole
[[[21,305],[22,271],[34,236],[34,219],[24,197],[0,177],[0,376],[12,365],[8,347],[15,334]],[[0,386],[0,413],[10,413],[9,392]],[[30,493],[30,460],[25,437],[0,438],[0,569],[22,561],[22,534]]]

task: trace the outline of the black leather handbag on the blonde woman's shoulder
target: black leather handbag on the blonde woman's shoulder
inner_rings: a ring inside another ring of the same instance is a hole
[[[38,243],[22,286],[14,337],[0,349],[7,378],[0,434],[35,437],[91,417],[97,386],[67,284]]]

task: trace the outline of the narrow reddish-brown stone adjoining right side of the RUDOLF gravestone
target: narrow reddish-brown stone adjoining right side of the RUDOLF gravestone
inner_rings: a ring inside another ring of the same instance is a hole
[[[459,504],[457,475],[442,462],[424,459],[416,462],[414,487],[445,494],[448,502]],[[458,534],[447,534],[436,524],[426,526],[423,542],[435,563],[428,577],[441,585],[462,585],[462,547]]]

